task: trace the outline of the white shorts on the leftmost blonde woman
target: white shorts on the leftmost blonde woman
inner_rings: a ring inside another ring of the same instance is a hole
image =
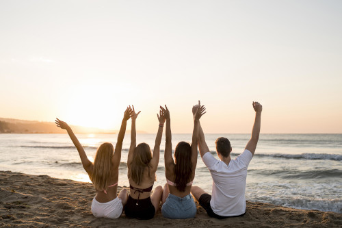
[[[123,206],[119,197],[106,203],[96,201],[95,197],[92,199],[92,214],[96,218],[119,218],[122,209]]]

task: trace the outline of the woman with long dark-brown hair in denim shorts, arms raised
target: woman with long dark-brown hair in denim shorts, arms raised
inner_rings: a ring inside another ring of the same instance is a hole
[[[171,123],[168,107],[162,109],[166,117],[166,145],[164,152],[165,175],[167,183],[163,189],[161,214],[166,218],[194,218],[196,205],[190,194],[197,164],[198,121],[205,114],[205,107],[193,107],[194,131],[192,144],[179,142],[172,158]]]

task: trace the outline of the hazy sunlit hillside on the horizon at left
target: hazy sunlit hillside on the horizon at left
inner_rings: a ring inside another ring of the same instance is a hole
[[[75,133],[116,133],[94,127],[70,125]],[[0,118],[0,133],[65,133],[64,129],[56,127],[52,122],[23,121],[14,118]]]

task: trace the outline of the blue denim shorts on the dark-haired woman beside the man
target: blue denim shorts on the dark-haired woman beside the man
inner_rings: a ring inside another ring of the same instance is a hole
[[[196,204],[191,194],[183,198],[169,194],[161,207],[161,214],[165,218],[194,218],[196,212]]]

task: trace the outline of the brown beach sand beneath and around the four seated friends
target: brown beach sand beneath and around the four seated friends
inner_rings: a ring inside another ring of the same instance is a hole
[[[0,227],[342,227],[342,214],[247,202],[244,216],[218,220],[198,206],[196,218],[95,218],[91,183],[0,172]],[[118,188],[120,191],[122,187]]]

